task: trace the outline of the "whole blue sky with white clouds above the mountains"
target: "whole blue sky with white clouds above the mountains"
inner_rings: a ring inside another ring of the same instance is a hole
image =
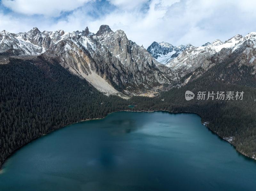
[[[147,48],[153,41],[200,46],[256,32],[253,0],[0,0],[0,31],[124,30]]]

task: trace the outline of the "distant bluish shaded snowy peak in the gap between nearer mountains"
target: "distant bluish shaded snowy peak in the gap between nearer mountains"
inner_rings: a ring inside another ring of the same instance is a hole
[[[149,47],[148,52],[156,59],[157,62],[162,64],[168,63],[170,60],[176,58],[180,53],[186,48],[192,45],[188,44],[187,46],[180,45],[178,47],[173,46],[168,42],[156,42],[154,41]]]

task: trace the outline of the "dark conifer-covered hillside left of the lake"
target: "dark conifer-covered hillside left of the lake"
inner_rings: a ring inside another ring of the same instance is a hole
[[[77,121],[125,110],[126,100],[105,96],[65,70],[38,57],[0,65],[0,166],[29,141]]]

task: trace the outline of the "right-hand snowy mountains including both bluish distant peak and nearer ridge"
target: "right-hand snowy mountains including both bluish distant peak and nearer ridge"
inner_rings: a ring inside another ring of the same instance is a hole
[[[212,43],[207,42],[200,47],[194,47],[191,44],[174,47],[166,42],[153,42],[148,47],[148,52],[160,63],[172,69],[179,76],[185,76],[187,73],[196,70],[199,67],[207,69],[218,61],[223,61],[230,54],[236,54],[243,63],[255,63],[256,33],[249,33],[245,37],[237,34],[236,36],[222,42],[220,39]],[[218,57],[218,55],[221,56]],[[246,55],[241,57],[241,55]]]

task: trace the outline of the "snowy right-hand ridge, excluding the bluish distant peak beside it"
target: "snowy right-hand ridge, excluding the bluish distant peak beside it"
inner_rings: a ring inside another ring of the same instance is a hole
[[[237,34],[225,42],[217,39],[200,47],[188,47],[179,56],[166,63],[166,66],[173,71],[182,71],[186,74],[199,67],[206,69],[213,62],[212,57],[216,59],[219,55],[220,61],[230,54],[237,54],[237,56],[244,54],[246,55],[245,62],[248,64],[255,63],[255,57],[252,54],[256,48],[255,36],[256,33],[249,33],[245,37]]]

